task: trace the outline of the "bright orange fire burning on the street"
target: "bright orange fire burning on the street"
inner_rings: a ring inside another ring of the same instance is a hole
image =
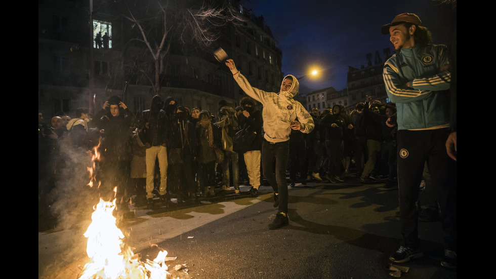
[[[94,148],[92,157],[93,168],[88,168],[91,181],[94,185],[95,162],[100,160],[98,146]],[[100,186],[100,184],[99,184]],[[114,189],[116,192],[116,188]],[[152,261],[142,262],[135,256],[131,247],[124,242],[125,235],[117,227],[117,219],[113,215],[115,198],[112,202],[100,202],[93,207],[92,222],[85,232],[88,238],[86,253],[90,261],[85,265],[79,279],[165,279],[170,274],[167,269],[167,251],[161,251]]]

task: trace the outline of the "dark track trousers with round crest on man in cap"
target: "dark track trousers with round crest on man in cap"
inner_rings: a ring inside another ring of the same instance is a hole
[[[427,162],[433,186],[438,187],[441,225],[447,249],[456,251],[456,162],[446,153],[448,129],[398,131],[398,187],[404,246],[418,248],[419,185]]]

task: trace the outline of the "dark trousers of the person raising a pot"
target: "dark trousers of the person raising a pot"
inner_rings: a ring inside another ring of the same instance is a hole
[[[286,168],[289,154],[290,145],[288,141],[270,143],[264,140],[262,143],[262,168],[264,177],[270,186],[272,186],[274,192],[278,193],[279,212],[282,213],[287,213]]]

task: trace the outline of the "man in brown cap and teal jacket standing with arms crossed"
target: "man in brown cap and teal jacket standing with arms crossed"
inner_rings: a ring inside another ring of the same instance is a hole
[[[383,77],[391,102],[397,106],[398,186],[403,245],[389,259],[420,258],[418,237],[419,185],[425,162],[439,187],[444,231],[444,267],[456,267],[456,184],[450,183],[450,159],[444,144],[449,133],[449,53],[432,45],[430,31],[415,14],[396,16],[382,27],[398,51],[384,65]]]

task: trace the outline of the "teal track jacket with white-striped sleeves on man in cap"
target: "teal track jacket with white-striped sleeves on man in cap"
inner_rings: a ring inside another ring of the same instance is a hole
[[[388,97],[396,103],[398,130],[449,127],[448,67],[449,53],[443,45],[415,45],[386,61],[383,77]]]

